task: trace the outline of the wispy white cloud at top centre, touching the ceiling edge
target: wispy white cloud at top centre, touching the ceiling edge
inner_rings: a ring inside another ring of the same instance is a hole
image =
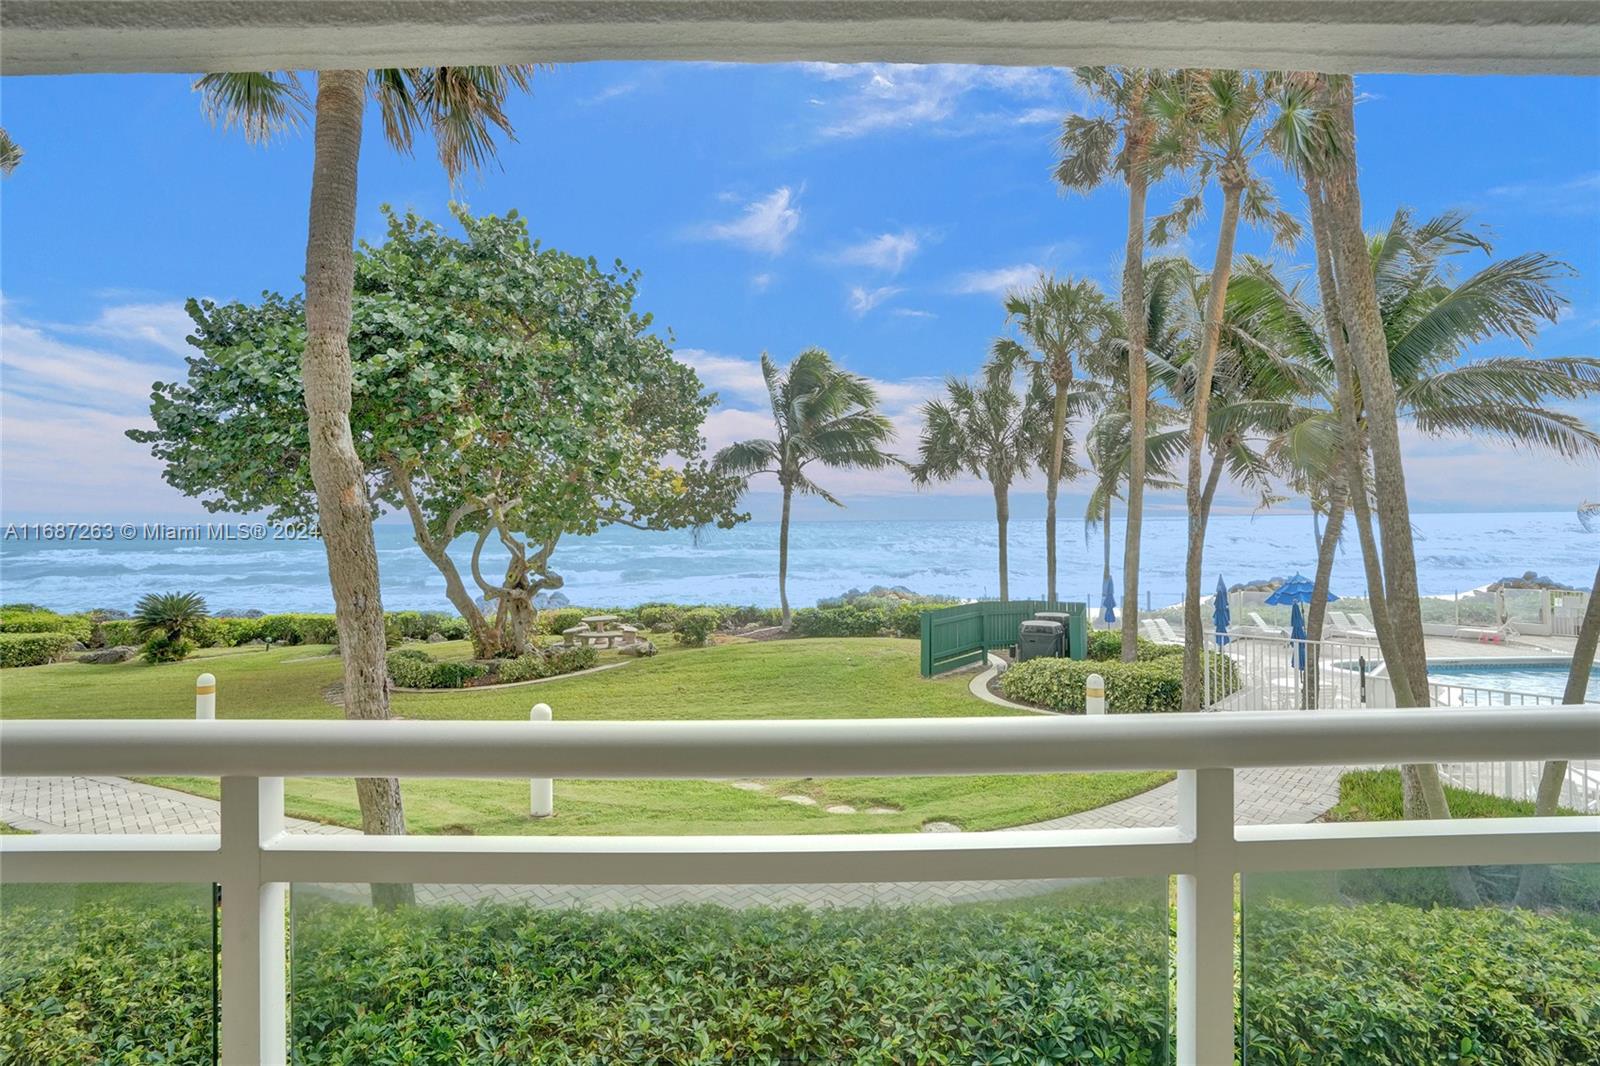
[[[806,62],[802,69],[840,88],[829,99],[813,98],[827,114],[821,126],[827,138],[917,126],[976,134],[1053,122],[1077,99],[1069,74],[1054,67]],[[982,99],[982,107],[968,106],[973,99]],[[1013,102],[1029,106],[1006,110]]]

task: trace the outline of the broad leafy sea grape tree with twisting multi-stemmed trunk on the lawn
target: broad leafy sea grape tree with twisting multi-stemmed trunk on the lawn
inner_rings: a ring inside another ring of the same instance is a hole
[[[744,515],[738,480],[702,458],[715,397],[634,309],[638,275],[539,246],[515,213],[453,210],[459,237],[386,211],[387,238],[357,256],[350,427],[374,514],[410,519],[480,655],[518,655],[534,595],[562,586],[563,535]],[[189,301],[189,314],[187,379],[155,383],[155,429],[128,435],[208,509],[312,528],[301,299]],[[446,551],[458,538],[466,576]],[[491,543],[509,555],[493,573]]]

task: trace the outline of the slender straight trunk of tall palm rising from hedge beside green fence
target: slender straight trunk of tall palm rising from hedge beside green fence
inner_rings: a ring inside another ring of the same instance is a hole
[[[1133,118],[1123,134],[1128,157],[1128,240],[1122,258],[1122,317],[1128,327],[1128,517],[1122,547],[1122,661],[1139,653],[1139,535],[1144,523],[1144,439],[1149,435],[1150,368],[1144,362],[1144,173],[1149,122],[1144,118],[1144,75],[1133,86]]]

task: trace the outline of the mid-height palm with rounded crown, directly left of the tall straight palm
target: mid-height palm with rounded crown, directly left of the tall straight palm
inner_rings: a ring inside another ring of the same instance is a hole
[[[1027,367],[1050,395],[1050,443],[1045,455],[1045,599],[1056,602],[1056,495],[1067,455],[1067,418],[1074,363],[1102,347],[1115,331],[1115,312],[1090,280],[1040,277],[1005,301],[1006,315],[1026,344],[1013,338],[994,343],[990,367]]]

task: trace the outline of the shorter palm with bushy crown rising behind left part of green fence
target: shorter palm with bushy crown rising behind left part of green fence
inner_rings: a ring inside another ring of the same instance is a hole
[[[971,474],[989,482],[995,495],[1000,533],[1000,599],[1010,599],[1006,523],[1011,519],[1011,483],[1024,477],[1050,450],[1045,413],[1051,397],[1038,378],[1026,395],[1013,386],[1008,365],[986,367],[979,384],[950,378],[946,399],[922,408],[922,440],[910,467],[918,487]]]

